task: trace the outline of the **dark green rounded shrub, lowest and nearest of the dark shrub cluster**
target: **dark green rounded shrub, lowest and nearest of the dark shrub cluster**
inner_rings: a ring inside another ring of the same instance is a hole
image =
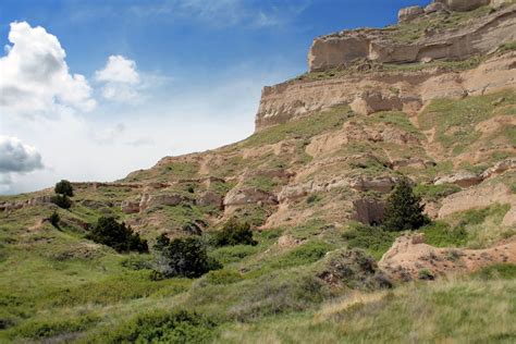
[[[210,270],[222,268],[220,262],[209,258],[206,246],[197,237],[158,237],[153,246],[156,270],[163,278],[198,278]]]

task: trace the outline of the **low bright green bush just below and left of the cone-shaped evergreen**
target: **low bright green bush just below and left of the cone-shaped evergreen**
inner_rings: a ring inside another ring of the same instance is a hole
[[[394,243],[397,234],[380,226],[357,224],[343,234],[349,248],[363,248],[379,260]]]

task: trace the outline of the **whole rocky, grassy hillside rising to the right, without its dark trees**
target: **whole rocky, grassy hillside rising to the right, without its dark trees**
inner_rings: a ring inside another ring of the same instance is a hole
[[[0,342],[514,342],[515,89],[512,0],[316,38],[306,74],[263,88],[250,137],[73,183],[67,210],[53,188],[1,196]],[[432,223],[384,231],[404,177]],[[156,279],[151,254],[86,238],[100,217],[150,246],[236,219],[257,245]]]

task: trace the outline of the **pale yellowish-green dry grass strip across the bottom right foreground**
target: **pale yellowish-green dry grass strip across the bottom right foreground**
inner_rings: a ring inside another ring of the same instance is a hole
[[[515,292],[514,280],[407,285],[316,311],[228,323],[216,343],[512,343]]]

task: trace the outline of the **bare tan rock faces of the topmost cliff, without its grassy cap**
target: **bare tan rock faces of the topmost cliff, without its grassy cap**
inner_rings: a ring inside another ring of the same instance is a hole
[[[450,0],[446,4],[462,10],[478,7],[479,1]],[[409,9],[401,13],[403,20],[421,15],[422,9]],[[426,59],[466,59],[472,54],[487,53],[502,44],[516,40],[515,12],[512,5],[479,17],[475,24],[439,35],[425,34],[409,44],[391,39],[388,29],[368,28],[322,36],[311,45],[308,67],[310,72],[317,72],[347,66],[356,59],[406,63]]]

